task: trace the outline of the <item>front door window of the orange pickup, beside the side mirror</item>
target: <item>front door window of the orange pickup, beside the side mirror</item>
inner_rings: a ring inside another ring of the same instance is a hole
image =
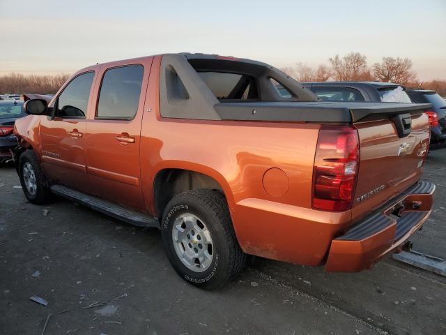
[[[93,72],[78,75],[63,89],[57,99],[57,117],[85,118],[94,76]]]

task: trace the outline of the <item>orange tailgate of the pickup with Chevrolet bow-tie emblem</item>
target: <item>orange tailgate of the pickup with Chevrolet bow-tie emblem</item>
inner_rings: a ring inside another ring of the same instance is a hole
[[[422,112],[410,118],[411,130],[405,137],[399,136],[391,119],[354,123],[360,140],[360,164],[353,222],[420,179],[429,148],[429,119]]]

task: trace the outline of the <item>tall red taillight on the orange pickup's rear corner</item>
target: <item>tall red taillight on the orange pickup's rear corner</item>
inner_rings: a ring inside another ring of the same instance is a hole
[[[359,158],[359,140],[353,126],[322,126],[314,158],[314,209],[351,208]]]

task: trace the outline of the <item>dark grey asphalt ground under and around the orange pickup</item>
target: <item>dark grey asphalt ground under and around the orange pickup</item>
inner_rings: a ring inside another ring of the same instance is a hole
[[[446,149],[424,177],[436,202],[414,248],[446,258]],[[171,269],[157,230],[62,199],[36,206],[16,186],[1,167],[1,334],[446,334],[446,277],[390,257],[359,274],[257,259],[206,292]]]

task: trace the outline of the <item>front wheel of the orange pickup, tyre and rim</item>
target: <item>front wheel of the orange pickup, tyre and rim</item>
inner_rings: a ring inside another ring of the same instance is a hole
[[[37,155],[32,150],[25,151],[20,156],[19,177],[22,190],[33,204],[45,204],[51,199],[51,191],[47,178],[40,168]]]

